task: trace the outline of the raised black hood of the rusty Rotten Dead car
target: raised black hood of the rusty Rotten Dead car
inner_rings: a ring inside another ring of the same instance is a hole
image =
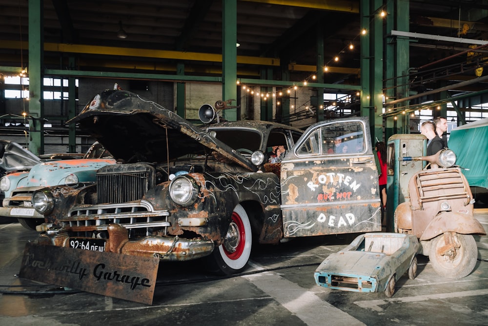
[[[74,122],[126,163],[167,162],[186,154],[218,152],[249,171],[257,170],[198,126],[128,91],[103,91],[67,123]]]

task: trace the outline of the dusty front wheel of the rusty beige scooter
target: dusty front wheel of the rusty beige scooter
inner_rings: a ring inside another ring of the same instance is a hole
[[[446,251],[451,241],[454,248]],[[450,279],[468,276],[474,269],[477,258],[478,248],[472,235],[446,232],[432,239],[429,260],[434,270],[441,276]]]

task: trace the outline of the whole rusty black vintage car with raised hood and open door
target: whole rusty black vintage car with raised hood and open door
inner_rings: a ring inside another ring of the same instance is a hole
[[[40,244],[207,257],[211,269],[230,274],[244,270],[253,241],[381,230],[365,118],[305,133],[259,121],[200,127],[134,93],[107,90],[71,122],[119,163],[99,169],[96,183],[33,194],[46,218]],[[328,151],[334,140],[344,144],[340,153]],[[281,163],[266,163],[273,145],[288,148]]]

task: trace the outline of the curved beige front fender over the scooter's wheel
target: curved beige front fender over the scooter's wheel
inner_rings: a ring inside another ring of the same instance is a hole
[[[444,232],[486,235],[483,225],[471,215],[460,212],[443,212],[430,221],[420,240],[430,240]]]

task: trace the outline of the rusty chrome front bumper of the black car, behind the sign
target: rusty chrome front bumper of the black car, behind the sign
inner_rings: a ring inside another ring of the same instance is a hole
[[[167,236],[146,236],[129,240],[128,230],[120,224],[107,226],[105,251],[125,255],[158,257],[167,261],[188,261],[208,256],[214,249],[211,240],[181,239]],[[39,236],[39,244],[69,247],[69,235],[62,229],[48,230]],[[82,250],[82,249],[80,249]]]

